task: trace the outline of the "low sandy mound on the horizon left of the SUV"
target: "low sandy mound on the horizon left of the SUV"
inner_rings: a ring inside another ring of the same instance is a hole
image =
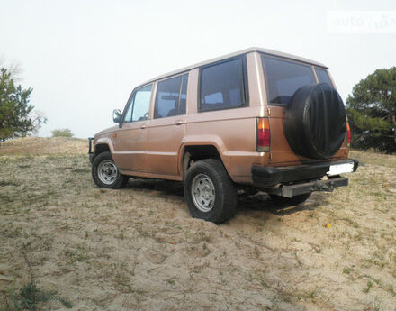
[[[68,137],[23,137],[2,142],[0,154],[78,154],[88,152],[88,141]]]

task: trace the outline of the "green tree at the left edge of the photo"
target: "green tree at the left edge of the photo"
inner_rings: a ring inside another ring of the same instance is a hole
[[[33,112],[31,92],[32,88],[16,86],[13,70],[0,68],[0,142],[37,133],[47,122],[44,114]]]

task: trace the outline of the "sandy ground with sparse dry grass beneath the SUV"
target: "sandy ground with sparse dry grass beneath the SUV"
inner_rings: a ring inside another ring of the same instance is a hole
[[[239,197],[217,225],[190,217],[179,183],[99,189],[86,142],[48,142],[0,151],[0,310],[31,279],[71,310],[396,310],[395,156],[352,152],[348,188],[284,210]]]

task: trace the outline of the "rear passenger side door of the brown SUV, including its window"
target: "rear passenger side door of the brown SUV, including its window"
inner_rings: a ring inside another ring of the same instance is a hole
[[[153,118],[148,122],[147,158],[153,174],[176,176],[185,133],[188,74],[157,82]]]

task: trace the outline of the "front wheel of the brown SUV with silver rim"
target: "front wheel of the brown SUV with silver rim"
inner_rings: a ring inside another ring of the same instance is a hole
[[[97,187],[111,189],[124,188],[130,179],[120,173],[112,160],[112,154],[108,151],[99,153],[94,158],[92,178]]]

